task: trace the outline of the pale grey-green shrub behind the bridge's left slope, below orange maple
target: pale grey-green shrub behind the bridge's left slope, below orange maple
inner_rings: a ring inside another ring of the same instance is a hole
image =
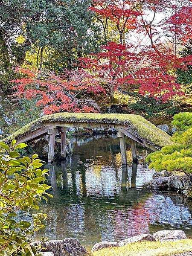
[[[14,116],[20,127],[40,117],[41,110],[35,100],[20,99],[19,103],[20,108],[15,109]]]

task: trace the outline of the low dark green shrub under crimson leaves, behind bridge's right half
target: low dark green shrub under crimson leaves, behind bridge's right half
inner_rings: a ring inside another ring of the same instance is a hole
[[[135,111],[135,113],[140,115],[145,115],[147,117],[151,116],[172,116],[177,113],[177,102],[167,101],[162,102],[157,101],[152,97],[143,97],[140,93],[125,93],[130,96],[130,99],[135,102],[128,103],[128,108]]]

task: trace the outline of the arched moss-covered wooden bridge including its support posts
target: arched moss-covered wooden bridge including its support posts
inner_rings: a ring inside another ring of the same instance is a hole
[[[139,115],[131,114],[97,114],[97,113],[56,113],[43,116],[25,125],[14,134],[5,138],[10,143],[30,143],[49,134],[48,162],[54,157],[55,134],[61,133],[61,157],[66,157],[67,127],[116,128],[120,142],[122,164],[127,163],[125,136],[129,137],[133,160],[137,161],[136,142],[153,151],[171,145],[171,137],[151,122]]]

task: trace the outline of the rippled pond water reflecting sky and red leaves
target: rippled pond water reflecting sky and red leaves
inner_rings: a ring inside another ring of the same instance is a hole
[[[138,164],[121,166],[119,140],[97,136],[73,138],[73,154],[55,162],[48,183],[53,199],[41,202],[46,229],[35,239],[73,237],[87,249],[99,241],[119,241],[140,233],[182,229],[192,236],[192,204],[176,193],[147,189],[153,172],[145,164],[150,150],[138,145]]]

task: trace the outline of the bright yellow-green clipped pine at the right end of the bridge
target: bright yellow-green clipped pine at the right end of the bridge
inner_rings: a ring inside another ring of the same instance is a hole
[[[150,169],[192,173],[192,113],[178,113],[172,122],[178,129],[172,140],[175,145],[163,147],[146,157]]]

